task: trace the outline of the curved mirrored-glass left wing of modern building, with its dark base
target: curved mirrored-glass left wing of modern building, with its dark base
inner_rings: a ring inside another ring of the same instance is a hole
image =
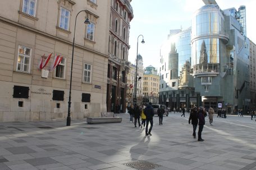
[[[189,108],[200,101],[191,75],[190,35],[191,28],[170,30],[168,40],[161,47],[159,103],[172,109]],[[205,55],[202,55],[202,60],[205,60]]]

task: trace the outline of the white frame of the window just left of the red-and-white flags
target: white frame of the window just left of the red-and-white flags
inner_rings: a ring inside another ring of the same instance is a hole
[[[20,53],[20,48],[24,48],[24,53]],[[25,54],[25,50],[26,49],[29,49],[29,55],[28,54]],[[26,46],[22,46],[22,45],[19,45],[19,48],[18,48],[18,56],[17,56],[17,67],[16,67],[16,70],[17,72],[25,72],[25,73],[30,73],[30,63],[31,63],[31,53],[32,53],[32,49],[31,48],[28,48]],[[19,58],[20,59],[20,62],[19,62]],[[28,58],[29,59],[29,63],[28,64],[25,64],[25,58]],[[19,64],[20,64],[20,69],[18,69],[19,67]],[[28,65],[27,69],[28,70],[24,70],[24,65]]]

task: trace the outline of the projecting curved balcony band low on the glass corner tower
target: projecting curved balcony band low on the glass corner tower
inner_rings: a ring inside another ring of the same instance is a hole
[[[193,76],[217,76],[220,74],[220,64],[208,63],[208,64],[196,64],[193,66]]]

